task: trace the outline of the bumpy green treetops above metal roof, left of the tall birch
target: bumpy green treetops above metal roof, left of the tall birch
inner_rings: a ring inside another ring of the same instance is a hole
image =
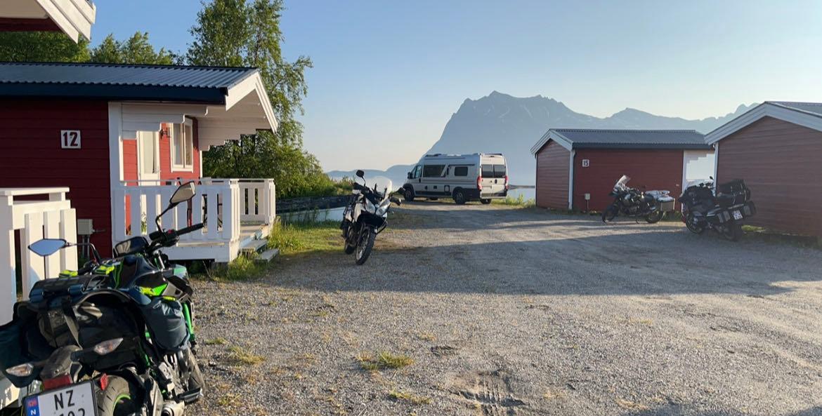
[[[90,62],[173,65],[178,61],[179,58],[165,48],[155,51],[148,32],[136,32],[122,42],[109,34],[90,51]]]

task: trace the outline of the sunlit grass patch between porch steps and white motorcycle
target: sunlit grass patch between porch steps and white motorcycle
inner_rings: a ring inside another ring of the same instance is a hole
[[[268,246],[280,254],[305,254],[323,251],[342,251],[339,222],[300,222],[271,226]]]

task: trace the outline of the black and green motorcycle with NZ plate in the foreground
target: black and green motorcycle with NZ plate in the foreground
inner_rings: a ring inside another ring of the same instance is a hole
[[[194,197],[193,182],[169,209]],[[0,371],[17,387],[42,389],[22,400],[29,416],[180,416],[204,388],[194,357],[192,286],[186,267],[159,250],[202,228],[163,230],[114,247],[77,272],[38,281],[0,327]],[[72,246],[39,240],[48,256]]]

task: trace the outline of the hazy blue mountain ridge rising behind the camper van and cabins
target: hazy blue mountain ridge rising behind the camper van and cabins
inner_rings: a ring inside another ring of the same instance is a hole
[[[533,185],[536,163],[530,149],[548,129],[675,129],[708,133],[752,106],[742,104],[723,117],[701,120],[656,116],[635,108],[600,118],[575,112],[553,98],[541,95],[517,98],[493,91],[483,98],[466,99],[451,115],[440,139],[427,153],[505,153],[511,183]],[[418,156],[409,155],[409,162],[417,160]],[[407,171],[409,166],[397,165],[388,171],[372,171],[368,175],[388,176],[401,183]],[[328,173],[345,176],[340,175],[342,171]],[[347,176],[353,176],[353,171]]]

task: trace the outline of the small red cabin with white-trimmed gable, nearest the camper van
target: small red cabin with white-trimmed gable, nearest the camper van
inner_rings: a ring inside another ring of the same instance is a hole
[[[601,211],[620,176],[635,188],[670,190],[713,173],[713,150],[695,130],[548,130],[531,148],[537,206]]]

